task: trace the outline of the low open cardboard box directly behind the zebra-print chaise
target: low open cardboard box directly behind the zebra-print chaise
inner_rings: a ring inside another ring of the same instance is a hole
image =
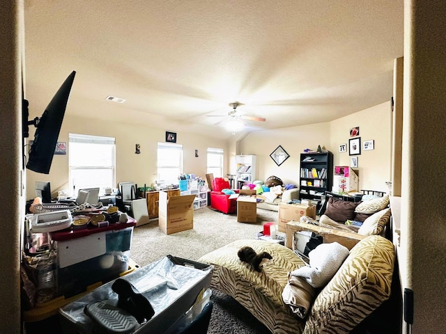
[[[289,223],[286,223],[286,247],[293,249],[294,232],[299,231],[315,232],[323,237],[324,243],[337,241],[339,244],[346,246],[348,249],[353,248],[353,246],[355,246],[355,244],[357,244],[360,240],[367,237],[362,234],[338,230],[336,228],[327,228],[313,224],[300,223],[300,221],[290,221]]]

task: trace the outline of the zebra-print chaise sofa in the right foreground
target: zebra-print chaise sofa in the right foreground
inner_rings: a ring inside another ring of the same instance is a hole
[[[254,270],[238,258],[243,246],[270,253],[272,262],[260,272]],[[213,289],[232,296],[272,333],[279,334],[351,333],[390,298],[394,261],[392,242],[379,235],[365,237],[349,251],[328,284],[316,291],[305,317],[299,317],[282,298],[288,274],[306,265],[290,248],[246,239],[199,259],[214,266]]]

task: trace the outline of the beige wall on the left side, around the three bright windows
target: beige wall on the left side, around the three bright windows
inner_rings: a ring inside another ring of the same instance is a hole
[[[43,106],[45,108],[45,106]],[[91,134],[98,136],[112,136],[116,138],[116,182],[132,181],[143,186],[150,185],[156,180],[157,173],[157,143],[164,142],[165,129],[158,129],[148,125],[118,124],[109,120],[86,120],[69,115],[70,102],[59,141],[68,143],[68,134]],[[41,109],[43,110],[43,109]],[[37,115],[36,115],[37,116]],[[175,129],[172,129],[175,131]],[[30,129],[32,139],[34,129]],[[135,154],[135,144],[141,145],[141,153]],[[199,134],[177,133],[177,144],[183,145],[184,172],[194,173],[206,179],[206,150],[208,147],[222,148],[228,151],[226,141],[200,136]],[[70,146],[68,145],[68,151]],[[199,157],[195,157],[195,150],[199,150]],[[68,153],[68,152],[67,152]],[[226,157],[228,159],[228,157]],[[34,198],[34,182],[51,182],[52,195],[57,191],[68,189],[68,154],[54,155],[48,175],[26,170],[27,186],[26,198]]]

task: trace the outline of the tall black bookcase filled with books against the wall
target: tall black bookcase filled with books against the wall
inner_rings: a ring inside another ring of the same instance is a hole
[[[300,191],[299,198],[312,200],[321,208],[325,191],[331,191],[333,180],[333,154],[300,154]]]

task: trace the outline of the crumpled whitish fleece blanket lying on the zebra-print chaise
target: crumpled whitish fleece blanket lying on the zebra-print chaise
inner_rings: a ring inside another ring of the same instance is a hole
[[[320,244],[309,252],[309,265],[291,271],[291,275],[305,278],[312,287],[324,287],[344,263],[350,252],[337,242]]]

